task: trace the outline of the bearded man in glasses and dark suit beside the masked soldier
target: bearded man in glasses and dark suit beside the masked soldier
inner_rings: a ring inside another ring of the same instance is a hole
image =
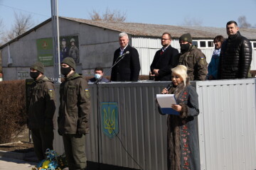
[[[171,35],[164,33],[161,36],[161,50],[156,52],[154,60],[150,66],[155,81],[170,81],[171,69],[178,64],[178,50],[171,47]]]

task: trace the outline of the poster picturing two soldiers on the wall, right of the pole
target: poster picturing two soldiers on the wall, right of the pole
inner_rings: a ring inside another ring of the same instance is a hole
[[[75,63],[80,63],[78,35],[60,37],[60,62],[65,57],[72,57]]]

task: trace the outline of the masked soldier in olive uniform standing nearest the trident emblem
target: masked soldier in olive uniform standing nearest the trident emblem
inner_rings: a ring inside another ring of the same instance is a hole
[[[85,169],[85,134],[89,132],[90,93],[87,81],[75,73],[75,61],[61,62],[60,108],[58,132],[63,135],[65,155],[70,170]]]

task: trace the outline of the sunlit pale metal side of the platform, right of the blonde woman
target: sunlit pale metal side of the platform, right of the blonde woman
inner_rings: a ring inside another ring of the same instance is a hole
[[[255,82],[196,83],[201,169],[256,169]]]

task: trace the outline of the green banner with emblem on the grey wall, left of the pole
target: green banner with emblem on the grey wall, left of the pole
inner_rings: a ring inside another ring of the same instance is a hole
[[[38,51],[38,62],[44,66],[53,66],[53,38],[42,38],[36,40]]]

